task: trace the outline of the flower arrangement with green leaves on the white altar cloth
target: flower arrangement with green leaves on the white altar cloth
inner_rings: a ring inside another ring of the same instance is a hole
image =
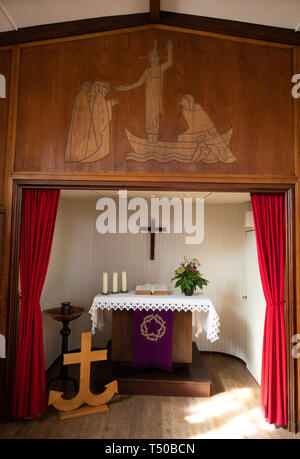
[[[175,270],[175,276],[172,279],[172,281],[177,281],[175,287],[180,287],[185,295],[192,295],[197,287],[202,290],[203,285],[207,285],[209,281],[202,277],[199,271],[200,266],[197,258],[189,260],[184,257],[183,263],[180,263]]]

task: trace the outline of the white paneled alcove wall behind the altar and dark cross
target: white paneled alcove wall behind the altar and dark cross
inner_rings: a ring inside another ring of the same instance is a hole
[[[89,310],[93,297],[101,291],[102,272],[126,270],[128,287],[146,282],[171,283],[174,270],[184,256],[200,260],[201,271],[210,282],[205,287],[220,316],[220,339],[211,344],[201,335],[200,350],[220,351],[245,359],[244,294],[244,211],[245,204],[205,205],[205,238],[200,245],[186,245],[184,234],[156,234],[155,260],[149,260],[148,234],[106,234],[96,231],[96,201],[61,200],[54,235],[42,308],[71,301]],[[120,276],[119,276],[120,280]],[[110,317],[110,313],[107,313]],[[109,324],[109,322],[108,322]],[[71,323],[70,349],[80,347],[80,333],[91,327],[86,313]],[[44,318],[46,367],[59,354],[60,324]],[[110,338],[96,332],[94,346]]]

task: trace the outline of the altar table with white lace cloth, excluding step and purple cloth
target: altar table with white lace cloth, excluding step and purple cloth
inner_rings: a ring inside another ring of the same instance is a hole
[[[185,296],[136,295],[134,291],[97,295],[90,308],[92,332],[105,327],[105,310],[113,310],[112,359],[128,362],[132,359],[132,314],[135,310],[173,311],[173,362],[192,362],[193,327],[195,336],[203,331],[210,342],[219,338],[219,316],[203,293]],[[203,314],[204,313],[204,314]]]

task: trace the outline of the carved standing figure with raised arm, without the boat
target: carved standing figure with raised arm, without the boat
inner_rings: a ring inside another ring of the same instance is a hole
[[[154,49],[148,55],[151,67],[148,67],[142,76],[129,86],[117,86],[117,91],[128,91],[146,84],[146,134],[149,143],[158,141],[159,116],[162,113],[162,93],[164,72],[173,64],[173,44],[171,40],[167,42],[168,56],[166,62],[159,65],[159,54],[157,51],[157,41],[155,40]]]

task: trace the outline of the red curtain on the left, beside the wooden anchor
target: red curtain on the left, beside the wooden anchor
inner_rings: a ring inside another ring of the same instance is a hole
[[[47,274],[59,190],[23,191],[20,232],[21,311],[14,379],[13,416],[36,418],[46,411],[40,298]]]

